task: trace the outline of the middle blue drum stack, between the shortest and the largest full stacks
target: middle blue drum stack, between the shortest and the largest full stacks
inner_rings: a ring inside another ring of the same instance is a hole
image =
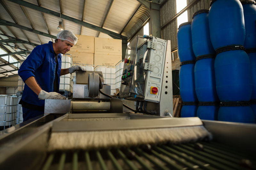
[[[196,115],[200,119],[217,120],[219,98],[215,86],[215,50],[210,40],[208,12],[196,11],[191,24],[192,45],[196,56],[195,89],[199,101]]]

